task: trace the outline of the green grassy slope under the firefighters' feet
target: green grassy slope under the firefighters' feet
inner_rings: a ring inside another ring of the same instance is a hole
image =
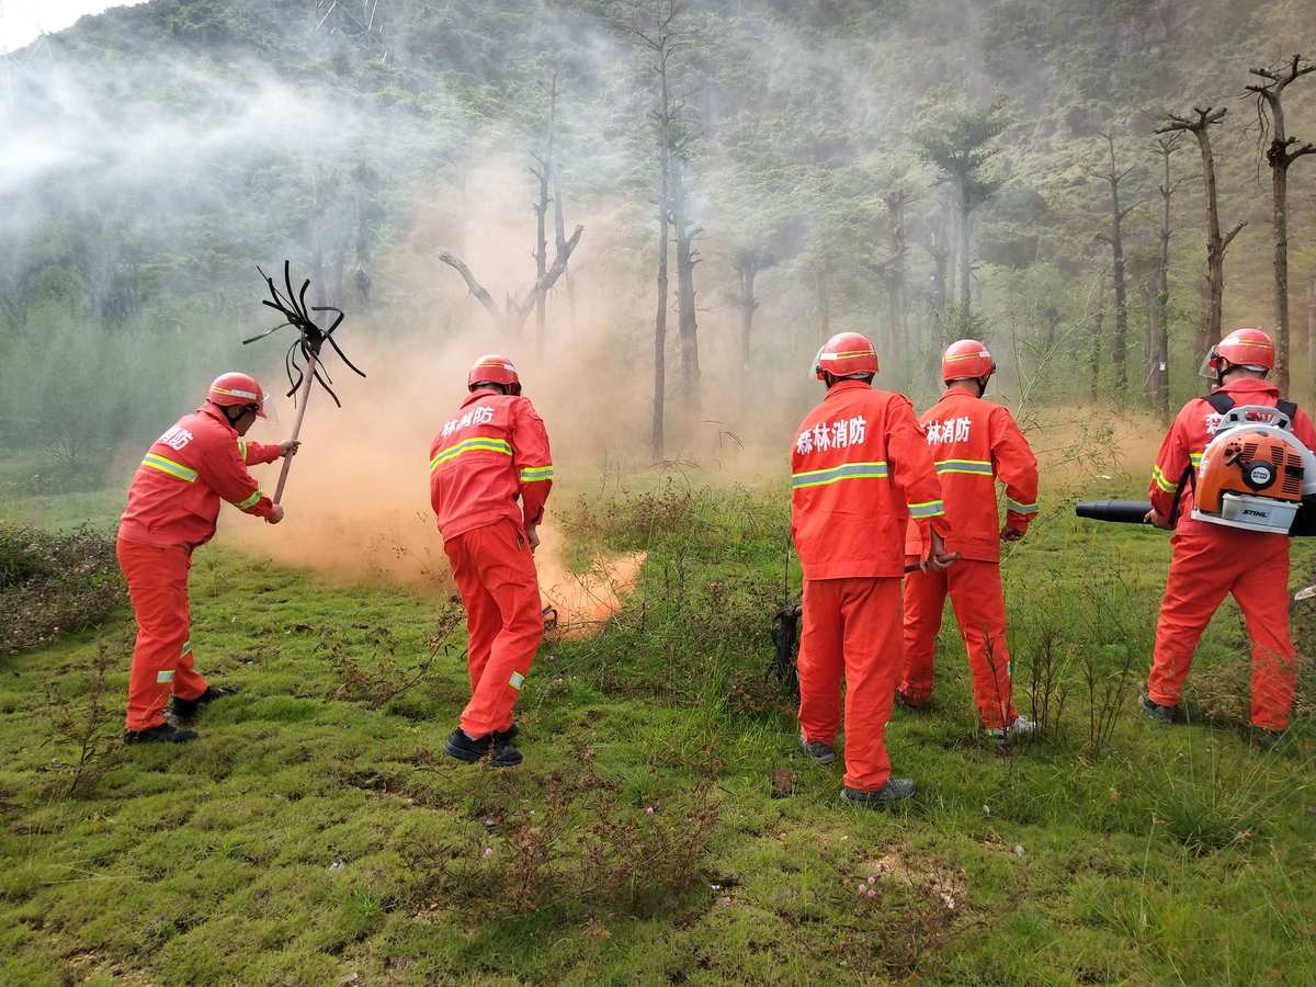
[[[1044,519],[1007,571],[1021,688],[1040,641],[1069,655],[1058,737],[1012,757],[983,742],[944,633],[934,711],[896,712],[888,734],[921,795],[875,815],[837,803],[840,766],[801,762],[762,674],[784,504],[676,484],[576,505],[576,538],[650,559],[615,625],[541,653],[515,771],[433,757],[462,703],[455,651],[382,708],[361,699],[378,682],[340,688],[343,658],[388,680],[426,654],[432,604],[218,549],[193,570],[193,640],[242,694],[205,713],[201,742],[45,796],[72,750],[42,686],[80,696],[96,641],[11,661],[0,982],[1308,980],[1311,721],[1262,754],[1229,728],[1157,732],[1125,699],[1107,751],[1083,753],[1079,659],[1104,678],[1129,655],[1141,675],[1163,541]],[[114,711],[129,629],[125,611],[100,636],[122,655]],[[1216,621],[1195,680],[1237,637]],[[701,808],[703,853],[683,845]],[[599,838],[636,866],[582,883]]]

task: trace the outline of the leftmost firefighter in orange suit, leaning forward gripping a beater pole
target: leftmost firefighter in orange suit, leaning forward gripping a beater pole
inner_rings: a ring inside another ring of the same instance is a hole
[[[265,392],[246,374],[224,374],[205,403],[161,436],[137,467],[118,521],[116,551],[137,617],[128,682],[128,744],[179,744],[196,737],[164,720],[187,719],[233,692],[208,686],[192,665],[187,574],[192,551],[215,537],[220,500],[270,524],[283,508],[261,491],[247,466],[296,453],[299,442],[265,445],[243,436],[265,417]]]

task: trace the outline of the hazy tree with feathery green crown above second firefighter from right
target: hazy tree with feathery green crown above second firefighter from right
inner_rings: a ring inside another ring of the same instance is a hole
[[[965,318],[970,315],[973,213],[1000,188],[1000,179],[983,174],[983,167],[996,154],[996,150],[988,145],[1004,129],[1001,107],[992,104],[982,111],[955,111],[942,126],[925,130],[919,137],[919,149],[923,157],[941,171],[942,182],[946,182],[953,191],[958,233],[957,283],[959,308],[963,311]]]

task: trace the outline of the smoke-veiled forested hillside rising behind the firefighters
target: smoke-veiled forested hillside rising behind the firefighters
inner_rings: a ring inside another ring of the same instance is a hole
[[[1220,221],[1246,226],[1224,324],[1273,328],[1270,138],[1244,87],[1316,54],[1311,28],[1304,0],[154,0],[84,18],[3,61],[0,440],[58,445],[66,479],[99,482],[250,358],[255,265],[284,257],[345,332],[416,355],[546,345],[567,387],[622,366],[615,438],[659,457],[707,446],[707,420],[753,430],[746,393],[794,417],[841,328],[878,333],[883,379],[916,396],[929,355],[976,333],[1013,399],[1159,404],[1153,132],[1228,108]],[[1316,139],[1316,75],[1284,111]],[[1171,404],[1198,387],[1205,312],[1202,158],[1182,137]],[[1295,392],[1313,225],[1309,157],[1290,176]]]

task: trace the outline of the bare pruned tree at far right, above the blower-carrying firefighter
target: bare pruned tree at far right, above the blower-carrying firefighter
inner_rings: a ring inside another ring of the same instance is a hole
[[[1257,100],[1259,141],[1270,164],[1271,205],[1275,236],[1275,376],[1279,390],[1288,390],[1288,167],[1302,157],[1316,154],[1316,145],[1290,137],[1284,124],[1284,89],[1309,72],[1316,63],[1294,55],[1282,67],[1250,70],[1262,82],[1246,88]],[[1266,137],[1270,142],[1266,142]]]

